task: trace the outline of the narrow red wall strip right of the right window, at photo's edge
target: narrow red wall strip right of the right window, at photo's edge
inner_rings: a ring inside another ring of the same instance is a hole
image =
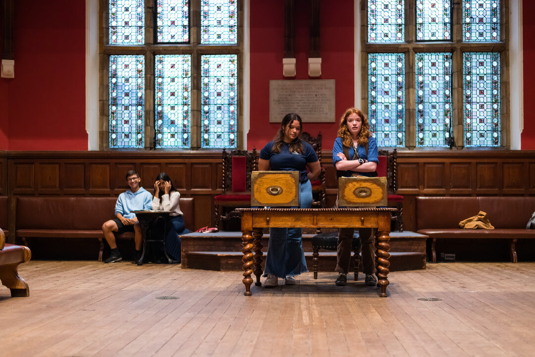
[[[521,135],[522,150],[535,150],[535,22],[531,22],[531,15],[535,14],[535,2],[522,2],[522,32],[524,58],[524,130]]]

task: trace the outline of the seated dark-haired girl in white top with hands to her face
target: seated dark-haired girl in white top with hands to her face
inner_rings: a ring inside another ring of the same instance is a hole
[[[169,175],[162,172],[154,183],[154,198],[152,198],[152,209],[173,211],[169,214],[170,229],[165,237],[165,247],[167,253],[174,260],[180,262],[180,238],[179,234],[184,231],[184,217],[180,210],[180,193],[174,188]]]

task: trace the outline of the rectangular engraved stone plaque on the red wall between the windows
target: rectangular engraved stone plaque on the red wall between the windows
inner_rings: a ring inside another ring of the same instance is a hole
[[[304,123],[335,121],[334,79],[269,81],[269,121],[297,113]]]

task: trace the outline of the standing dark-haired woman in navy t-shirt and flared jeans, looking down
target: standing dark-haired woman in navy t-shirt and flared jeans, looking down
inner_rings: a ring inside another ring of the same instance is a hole
[[[275,138],[260,151],[259,171],[299,171],[299,207],[310,208],[312,203],[311,180],[319,176],[321,168],[312,146],[301,139],[303,123],[299,115],[289,113],[282,118]],[[310,171],[307,174],[307,168]],[[264,269],[264,286],[295,284],[295,276],[308,271],[304,260],[301,228],[271,228],[268,256]]]

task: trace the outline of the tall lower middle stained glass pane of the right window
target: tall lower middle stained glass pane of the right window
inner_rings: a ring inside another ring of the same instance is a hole
[[[416,54],[416,146],[449,147],[452,54]]]

